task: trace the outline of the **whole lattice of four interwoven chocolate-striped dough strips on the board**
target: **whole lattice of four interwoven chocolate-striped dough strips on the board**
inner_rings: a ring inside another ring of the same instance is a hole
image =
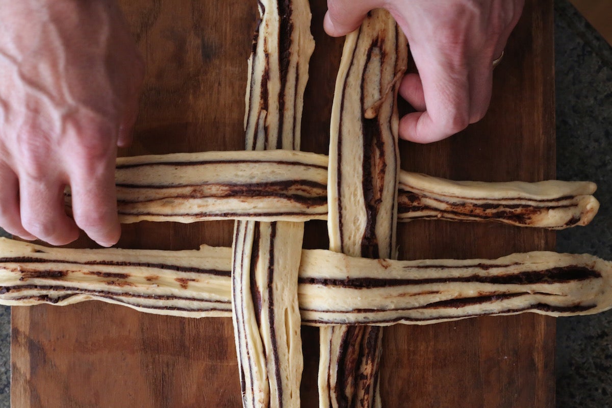
[[[304,324],[320,327],[319,406],[379,407],[383,326],[612,306],[612,265],[589,255],[394,261],[398,221],[584,225],[599,207],[595,186],[400,171],[396,101],[407,44],[383,10],[346,37],[329,156],[299,152],[315,46],[308,1],[261,1],[259,11],[247,151],[120,158],[116,172],[122,222],[231,218],[232,248],[72,250],[2,240],[0,303],[96,299],[147,313],[231,316],[245,407],[300,406]],[[302,249],[304,221],[315,219],[327,219],[329,250]]]

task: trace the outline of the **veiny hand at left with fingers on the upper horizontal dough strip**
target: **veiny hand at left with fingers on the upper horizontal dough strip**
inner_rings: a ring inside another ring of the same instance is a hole
[[[144,65],[113,0],[0,2],[0,225],[64,245],[119,240],[114,167]],[[72,213],[64,188],[72,190]]]

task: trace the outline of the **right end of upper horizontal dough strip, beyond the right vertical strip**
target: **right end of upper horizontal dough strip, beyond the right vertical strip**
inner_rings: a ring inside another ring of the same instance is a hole
[[[591,222],[599,202],[592,182],[451,181],[400,173],[398,221],[498,221],[564,229]]]

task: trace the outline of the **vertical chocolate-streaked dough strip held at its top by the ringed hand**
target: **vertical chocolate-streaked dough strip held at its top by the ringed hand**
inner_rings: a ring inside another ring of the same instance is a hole
[[[392,258],[399,154],[395,105],[407,45],[394,19],[375,10],[347,35],[330,128],[327,218],[330,250]],[[322,327],[319,406],[381,406],[382,330]]]

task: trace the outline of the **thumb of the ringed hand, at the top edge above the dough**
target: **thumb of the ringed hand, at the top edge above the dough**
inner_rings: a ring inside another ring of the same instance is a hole
[[[327,0],[323,28],[332,37],[346,35],[355,31],[365,15],[381,4],[382,0]]]

